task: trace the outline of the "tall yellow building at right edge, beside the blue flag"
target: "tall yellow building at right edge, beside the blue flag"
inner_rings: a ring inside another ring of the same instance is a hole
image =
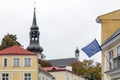
[[[118,80],[120,69],[116,65],[120,62],[120,10],[98,16],[97,22],[102,25],[102,80]]]

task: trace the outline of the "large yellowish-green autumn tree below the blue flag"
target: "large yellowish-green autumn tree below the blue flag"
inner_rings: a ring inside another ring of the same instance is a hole
[[[71,64],[73,72],[94,80],[101,80],[101,64],[93,60],[77,61]]]

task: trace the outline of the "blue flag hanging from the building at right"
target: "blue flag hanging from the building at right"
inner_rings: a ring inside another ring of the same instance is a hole
[[[98,44],[97,40],[95,39],[90,44],[82,48],[81,50],[84,51],[88,55],[88,57],[91,57],[97,52],[101,51],[102,49]]]

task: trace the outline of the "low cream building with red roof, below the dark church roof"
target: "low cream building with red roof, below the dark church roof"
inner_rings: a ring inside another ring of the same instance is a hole
[[[87,80],[86,78],[63,68],[45,67],[44,70],[53,75],[55,77],[55,80]]]

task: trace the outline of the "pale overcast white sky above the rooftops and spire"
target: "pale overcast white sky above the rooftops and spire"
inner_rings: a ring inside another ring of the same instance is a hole
[[[0,41],[9,33],[17,35],[24,48],[29,45],[34,2],[46,59],[74,57],[78,47],[80,61],[101,62],[101,52],[89,58],[81,48],[95,38],[101,44],[101,24],[95,20],[120,9],[120,0],[0,0]]]

